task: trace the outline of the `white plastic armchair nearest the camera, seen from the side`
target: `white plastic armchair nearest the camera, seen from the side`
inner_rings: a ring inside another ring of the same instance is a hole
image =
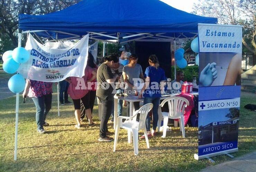
[[[147,118],[148,112],[152,108],[153,108],[153,104],[148,103],[142,106],[141,108],[139,108],[139,110],[136,110],[135,115],[133,115],[132,117],[123,117],[123,116],[118,117],[117,127],[115,131],[115,142],[114,142],[114,150],[113,150],[114,152],[116,151],[117,139],[118,139],[120,128],[124,128],[128,132],[132,132],[135,155],[138,154],[138,135],[139,135],[139,130],[141,129],[144,130],[147,148],[149,148],[149,142],[148,142],[147,130],[146,130],[146,118]],[[140,114],[139,122],[136,121],[136,117],[138,114]],[[122,122],[122,119],[127,119],[127,120],[125,122]]]

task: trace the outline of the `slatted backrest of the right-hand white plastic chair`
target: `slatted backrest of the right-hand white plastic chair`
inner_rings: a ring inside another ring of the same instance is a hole
[[[169,97],[160,104],[161,107],[168,102],[169,117],[180,117],[184,114],[185,107],[189,106],[189,100],[184,97]]]

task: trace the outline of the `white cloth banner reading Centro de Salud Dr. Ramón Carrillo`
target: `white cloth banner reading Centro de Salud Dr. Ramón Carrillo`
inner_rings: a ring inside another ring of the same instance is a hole
[[[30,58],[21,64],[18,73],[28,79],[59,82],[70,76],[82,77],[87,64],[89,36],[64,49],[49,49],[37,42],[31,34],[25,49]]]

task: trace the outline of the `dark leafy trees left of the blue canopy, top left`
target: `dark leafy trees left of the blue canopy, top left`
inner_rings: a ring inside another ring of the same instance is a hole
[[[41,15],[67,8],[81,0],[0,0],[0,35],[9,37],[14,47],[18,46],[19,14]],[[1,37],[1,44],[2,42]]]

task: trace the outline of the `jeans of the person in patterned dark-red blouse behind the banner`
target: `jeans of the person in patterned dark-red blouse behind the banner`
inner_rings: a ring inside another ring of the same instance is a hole
[[[46,115],[52,108],[52,94],[43,95],[42,97],[32,97],[36,105],[36,123],[37,130],[43,129]]]

